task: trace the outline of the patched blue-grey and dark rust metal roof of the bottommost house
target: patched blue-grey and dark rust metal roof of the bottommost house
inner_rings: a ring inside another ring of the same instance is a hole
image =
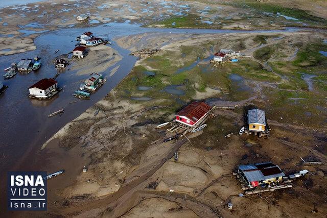
[[[240,165],[239,170],[243,172],[248,182],[285,176],[281,168],[271,162]]]

